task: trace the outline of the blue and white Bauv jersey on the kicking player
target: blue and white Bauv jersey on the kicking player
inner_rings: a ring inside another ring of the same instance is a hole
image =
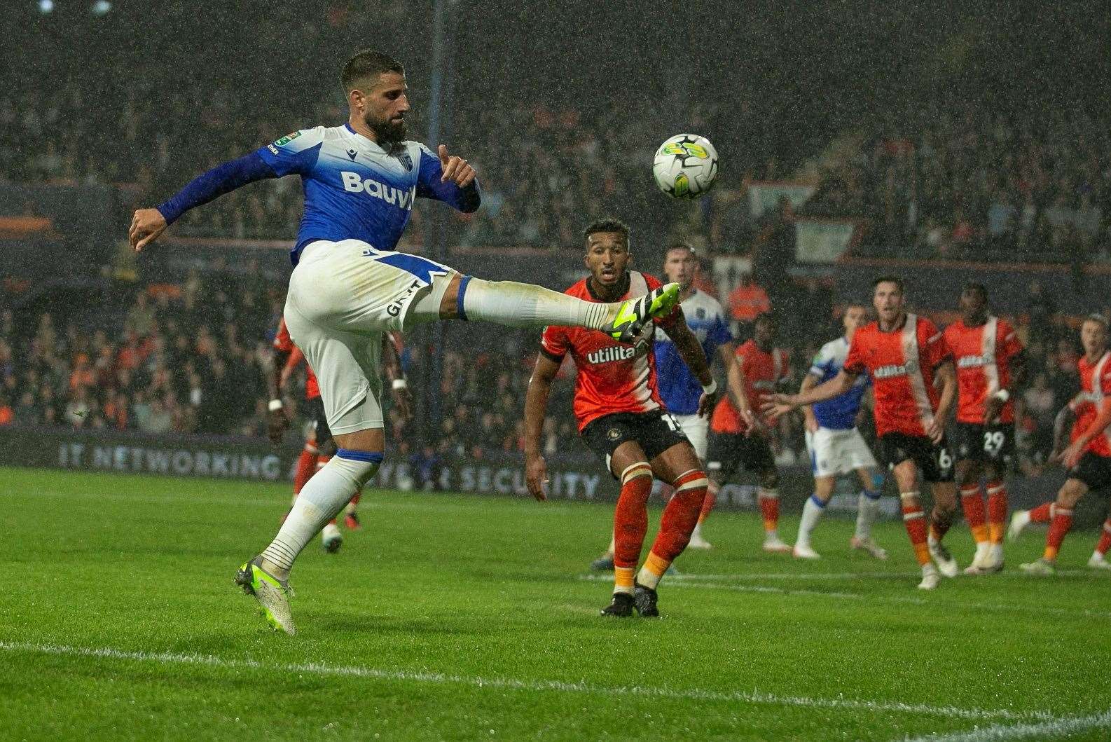
[[[294,264],[313,240],[357,239],[394,250],[416,198],[463,208],[463,191],[440,181],[440,158],[420,142],[387,150],[344,123],[294,131],[257,152],[279,178],[301,176],[304,215],[290,255]]]

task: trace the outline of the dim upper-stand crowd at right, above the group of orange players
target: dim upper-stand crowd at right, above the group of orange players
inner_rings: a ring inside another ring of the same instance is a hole
[[[1109,152],[1080,108],[923,107],[833,142],[802,211],[868,220],[874,254],[1105,262]]]

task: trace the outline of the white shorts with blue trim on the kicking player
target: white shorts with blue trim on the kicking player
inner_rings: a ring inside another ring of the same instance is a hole
[[[361,240],[310,242],[289,279],[286,327],[320,382],[333,434],[382,428],[382,333],[433,320],[454,271]]]

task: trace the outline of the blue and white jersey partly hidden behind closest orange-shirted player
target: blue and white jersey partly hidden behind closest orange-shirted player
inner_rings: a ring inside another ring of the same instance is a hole
[[[733,339],[721,303],[713,297],[694,290],[680,304],[687,327],[702,344],[705,360],[713,364],[718,348]],[[702,384],[687,367],[675,343],[659,327],[655,328],[655,385],[664,407],[674,414],[694,414],[702,395]]]

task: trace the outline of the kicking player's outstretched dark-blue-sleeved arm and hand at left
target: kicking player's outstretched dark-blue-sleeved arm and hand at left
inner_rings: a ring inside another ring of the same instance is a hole
[[[131,218],[128,241],[138,252],[158,239],[190,209],[206,204],[247,183],[306,172],[316,164],[323,142],[323,127],[286,134],[234,160],[222,162],[191,181],[153,209],[138,209]]]

